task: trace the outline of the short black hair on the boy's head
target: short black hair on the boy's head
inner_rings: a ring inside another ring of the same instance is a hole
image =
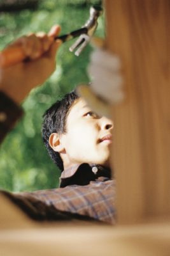
[[[78,99],[75,91],[67,93],[64,98],[57,100],[43,115],[42,136],[43,142],[48,150],[48,154],[53,162],[57,164],[61,171],[64,170],[64,165],[59,152],[55,152],[49,144],[50,134],[57,132],[59,134],[66,133],[66,119],[69,109],[74,101]]]

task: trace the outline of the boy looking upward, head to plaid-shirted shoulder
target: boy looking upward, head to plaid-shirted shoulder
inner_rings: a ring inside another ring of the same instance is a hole
[[[61,170],[60,188],[7,196],[36,220],[99,220],[115,223],[111,179],[113,123],[68,93],[44,115],[43,141]]]

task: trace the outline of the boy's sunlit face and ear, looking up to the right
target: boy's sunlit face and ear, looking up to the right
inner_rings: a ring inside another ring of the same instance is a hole
[[[113,122],[94,113],[83,99],[74,102],[67,115],[66,134],[60,138],[69,163],[107,164],[112,129]]]

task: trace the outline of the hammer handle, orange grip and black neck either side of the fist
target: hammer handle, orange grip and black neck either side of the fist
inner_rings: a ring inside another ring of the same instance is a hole
[[[81,28],[77,29],[67,35],[57,36],[54,39],[60,39],[62,42],[66,42],[68,40],[73,39],[76,36],[80,36],[83,33],[87,33],[87,28]],[[0,52],[0,68],[6,68],[10,67],[12,65],[15,65],[17,63],[20,63],[24,61],[26,58],[24,51],[22,50],[22,47],[20,46],[14,46],[8,49],[4,49]]]

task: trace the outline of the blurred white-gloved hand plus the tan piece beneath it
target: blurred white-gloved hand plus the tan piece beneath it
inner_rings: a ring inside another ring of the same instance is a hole
[[[96,49],[91,55],[89,75],[92,84],[81,84],[76,91],[90,108],[110,118],[110,105],[124,99],[120,59],[105,49]]]

